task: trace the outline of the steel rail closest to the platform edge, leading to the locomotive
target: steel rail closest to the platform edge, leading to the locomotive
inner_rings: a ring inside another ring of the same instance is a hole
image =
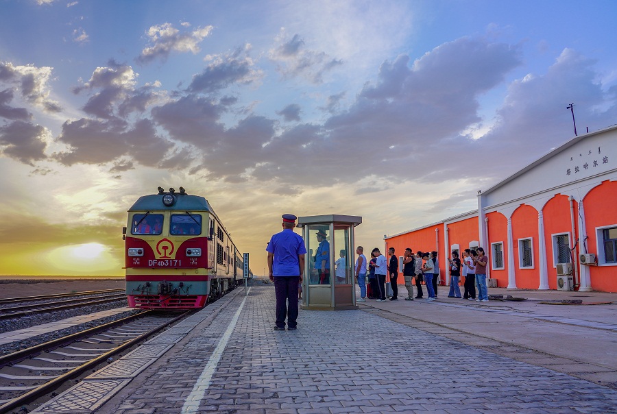
[[[133,345],[140,343],[144,339],[147,339],[148,337],[150,337],[152,334],[155,334],[156,332],[162,330],[162,328],[165,328],[166,326],[173,324],[174,322],[186,317],[186,315],[189,315],[190,313],[193,313],[193,312],[195,312],[195,310],[191,309],[185,313],[182,313],[182,315],[175,317],[171,319],[170,321],[165,322],[165,324],[161,324],[160,326],[152,330],[149,330],[148,332],[145,332],[139,335],[138,337],[131,339],[128,342],[123,343],[118,348],[114,348],[113,350],[110,350],[104,354],[101,354],[97,356],[96,358],[92,359],[91,361],[88,361],[84,365],[80,365],[79,367],[71,369],[71,371],[66,372],[66,374],[62,374],[61,376],[53,378],[53,380],[46,382],[45,384],[40,385],[39,387],[36,387],[35,389],[28,391],[27,393],[20,395],[19,397],[14,398],[13,400],[10,400],[9,402],[6,402],[2,406],[0,406],[0,413],[7,413],[9,410],[14,409],[17,406],[21,406],[23,404],[27,404],[28,402],[32,402],[33,400],[36,400],[36,398],[40,397],[41,395],[45,395],[46,393],[49,393],[49,391],[52,391],[53,389],[60,387],[60,385],[62,385],[67,380],[71,380],[72,378],[75,378],[76,376],[79,376],[80,374],[82,374],[87,369],[90,369],[91,367],[94,367],[95,365],[98,365],[99,363],[106,361],[107,358],[109,358],[110,356],[117,354],[118,352],[122,352],[123,350],[126,350],[128,348],[131,348]],[[139,315],[144,315],[144,313],[141,313]]]

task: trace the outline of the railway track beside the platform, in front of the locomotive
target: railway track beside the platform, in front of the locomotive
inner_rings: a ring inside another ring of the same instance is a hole
[[[0,413],[50,393],[193,312],[195,310],[175,313],[147,310],[0,356]]]

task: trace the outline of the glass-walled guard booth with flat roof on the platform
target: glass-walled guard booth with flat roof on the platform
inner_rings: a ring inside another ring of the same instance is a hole
[[[303,309],[357,309],[354,275],[354,227],[362,217],[298,217],[306,244]]]

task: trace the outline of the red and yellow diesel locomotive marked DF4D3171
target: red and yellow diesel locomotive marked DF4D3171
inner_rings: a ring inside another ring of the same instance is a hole
[[[158,187],[128,210],[123,237],[132,308],[201,308],[245,276],[243,256],[208,200],[179,190]]]

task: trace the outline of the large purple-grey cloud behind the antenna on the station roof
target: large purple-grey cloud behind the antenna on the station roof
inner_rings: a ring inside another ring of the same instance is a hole
[[[579,135],[589,126],[595,131],[615,123],[617,97],[604,90],[594,60],[564,49],[544,75],[529,73],[508,86],[496,123],[479,139],[491,156],[487,167],[501,177],[513,173],[574,136],[574,102]],[[516,157],[508,154],[518,154]]]

